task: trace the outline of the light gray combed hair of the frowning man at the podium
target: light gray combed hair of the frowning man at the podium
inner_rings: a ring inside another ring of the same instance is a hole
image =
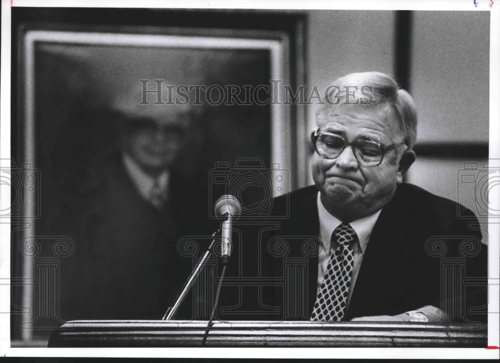
[[[330,111],[341,106],[390,105],[399,119],[404,141],[411,149],[416,139],[416,107],[407,91],[400,89],[387,74],[380,72],[350,73],[328,86],[323,104],[317,110],[318,126],[327,121]]]

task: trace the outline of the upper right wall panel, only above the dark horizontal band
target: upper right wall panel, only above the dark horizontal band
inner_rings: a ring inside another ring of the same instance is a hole
[[[419,142],[487,142],[489,12],[413,16],[411,94]]]

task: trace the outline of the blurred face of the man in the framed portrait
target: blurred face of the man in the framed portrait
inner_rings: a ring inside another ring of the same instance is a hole
[[[136,118],[127,128],[125,151],[142,169],[155,173],[172,165],[185,132],[181,118]]]

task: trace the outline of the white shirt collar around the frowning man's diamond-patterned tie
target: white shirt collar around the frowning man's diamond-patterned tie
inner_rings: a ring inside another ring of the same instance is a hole
[[[380,214],[381,210],[382,209],[349,223],[352,229],[354,229],[357,234],[357,238],[359,239],[359,246],[361,247],[362,253],[364,253],[364,250],[366,249],[371,231],[376,223],[376,220],[378,219],[378,215]],[[323,203],[321,202],[320,192],[317,193],[317,211],[319,215],[319,233],[321,242],[323,244],[324,250],[328,251],[330,248],[331,234],[333,233],[335,228],[338,227],[340,223],[342,223],[342,221],[331,215],[326,210]]]

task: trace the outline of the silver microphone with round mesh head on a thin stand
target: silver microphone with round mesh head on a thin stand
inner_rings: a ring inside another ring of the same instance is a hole
[[[232,251],[232,221],[237,220],[241,215],[241,203],[236,197],[226,194],[215,201],[213,208],[215,216],[223,219],[220,233],[222,240],[221,259],[222,264],[227,264]]]

